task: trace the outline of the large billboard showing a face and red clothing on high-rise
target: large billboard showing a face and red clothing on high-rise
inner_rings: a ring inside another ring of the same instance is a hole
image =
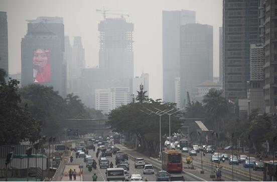
[[[50,82],[50,49],[34,49],[34,82]]]

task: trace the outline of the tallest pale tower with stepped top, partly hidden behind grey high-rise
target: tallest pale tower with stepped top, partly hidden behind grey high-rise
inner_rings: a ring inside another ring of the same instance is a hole
[[[163,11],[164,102],[175,102],[175,78],[180,77],[180,26],[194,23],[194,11]]]

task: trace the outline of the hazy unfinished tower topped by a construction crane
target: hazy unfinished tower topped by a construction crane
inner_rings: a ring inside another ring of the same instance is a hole
[[[133,78],[133,24],[124,18],[109,18],[98,24],[98,31],[99,68],[106,70],[107,80],[117,82],[117,87],[128,87]]]

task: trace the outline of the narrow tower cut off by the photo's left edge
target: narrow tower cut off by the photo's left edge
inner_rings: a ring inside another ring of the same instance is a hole
[[[0,12],[0,68],[4,69],[9,75],[9,59],[8,59],[8,22],[7,13]]]

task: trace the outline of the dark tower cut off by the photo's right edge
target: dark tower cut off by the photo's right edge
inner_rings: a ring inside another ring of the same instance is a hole
[[[277,111],[277,2],[264,1],[264,99],[265,112]]]

